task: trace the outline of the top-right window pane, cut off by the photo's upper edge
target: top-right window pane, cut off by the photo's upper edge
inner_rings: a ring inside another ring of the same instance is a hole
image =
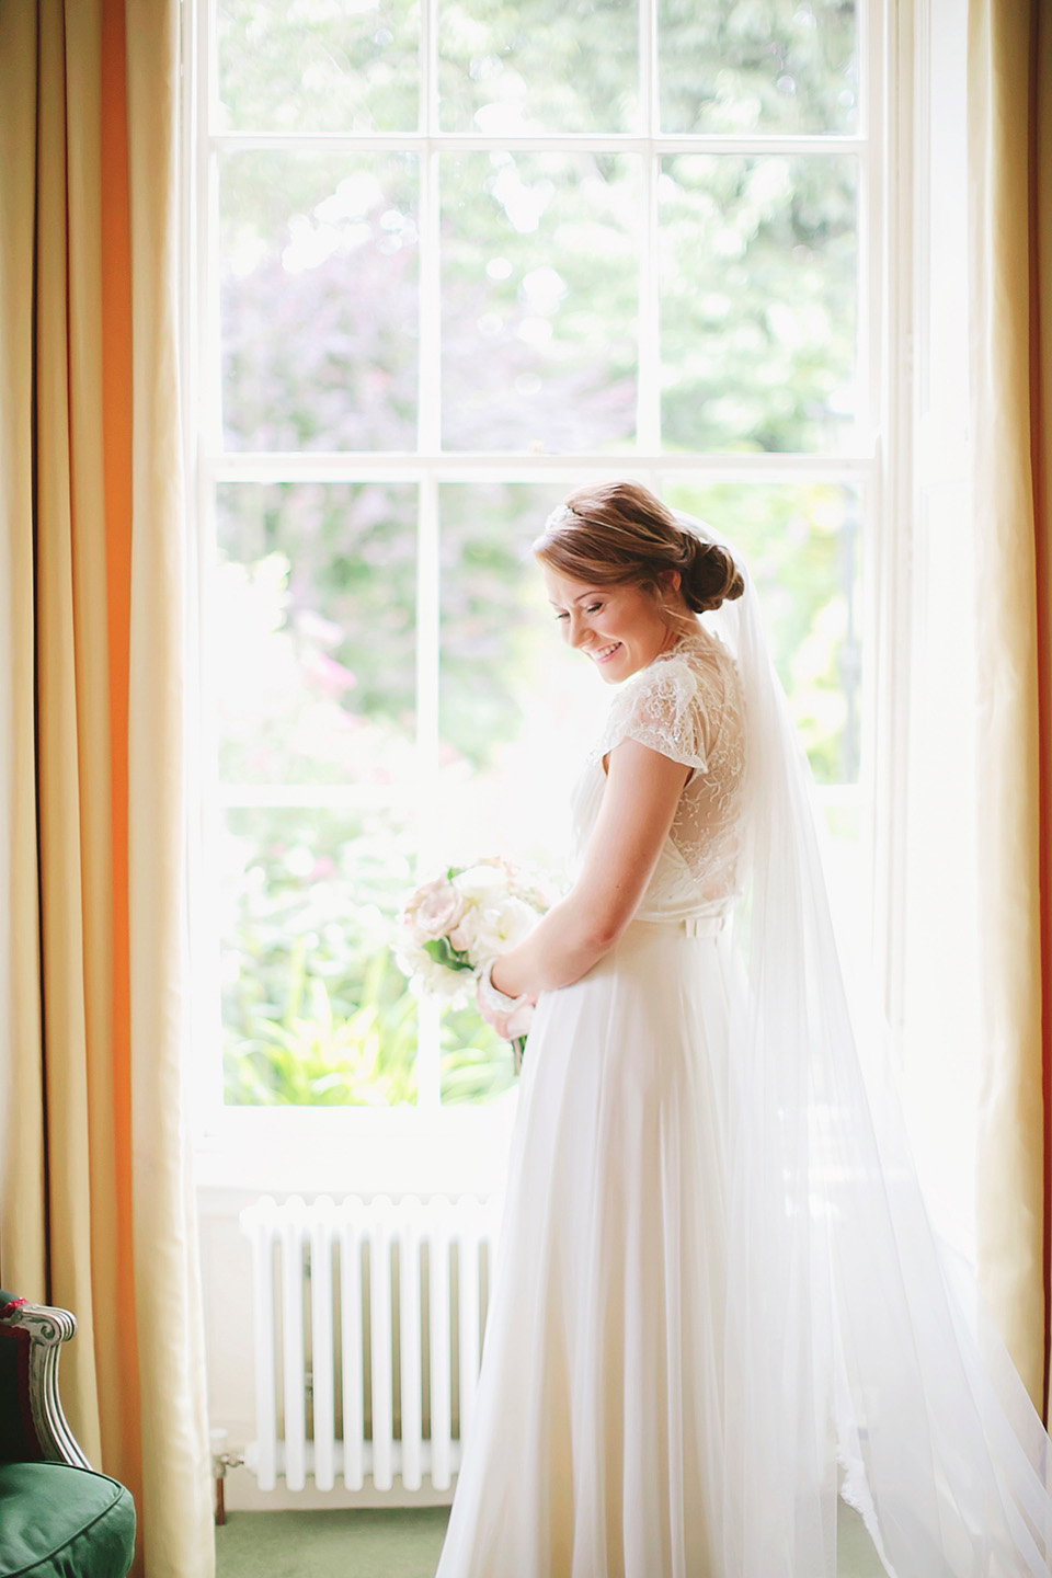
[[[658,49],[662,131],[856,129],[850,0],[658,0]]]

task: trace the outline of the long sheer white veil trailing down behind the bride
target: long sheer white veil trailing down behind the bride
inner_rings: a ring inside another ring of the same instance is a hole
[[[746,590],[705,619],[744,690],[751,851],[733,928],[749,1007],[729,1092],[722,1578],[834,1578],[837,1494],[893,1578],[1047,1575],[1049,1438],[932,1231],[886,1030],[845,988],[811,768],[726,546]]]

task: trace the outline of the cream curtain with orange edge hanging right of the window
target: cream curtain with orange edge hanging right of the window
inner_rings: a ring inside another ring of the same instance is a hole
[[[972,0],[968,178],[984,1065],[979,1275],[1038,1406],[1047,1376],[1052,816],[1052,13]]]

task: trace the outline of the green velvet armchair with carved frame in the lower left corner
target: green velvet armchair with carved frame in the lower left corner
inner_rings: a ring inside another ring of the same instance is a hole
[[[0,1578],[126,1578],[136,1505],[95,1474],[58,1400],[68,1310],[0,1292]]]

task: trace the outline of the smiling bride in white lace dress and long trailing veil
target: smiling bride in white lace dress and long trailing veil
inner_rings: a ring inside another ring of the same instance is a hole
[[[1047,1575],[1049,1441],[844,989],[746,567],[631,483],[535,555],[618,690],[574,887],[479,985],[532,1024],[437,1578],[834,1578],[837,1499],[893,1578]]]

